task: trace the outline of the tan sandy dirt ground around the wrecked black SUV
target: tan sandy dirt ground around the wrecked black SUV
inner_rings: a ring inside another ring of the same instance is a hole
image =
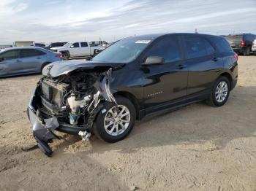
[[[0,79],[0,190],[256,190],[256,57],[239,57],[225,106],[193,104],[137,122],[124,141],[35,144],[26,106],[39,75]]]

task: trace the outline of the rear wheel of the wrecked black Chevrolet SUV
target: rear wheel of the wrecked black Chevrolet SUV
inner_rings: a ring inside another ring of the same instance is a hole
[[[225,85],[222,87],[222,85]],[[222,87],[222,91],[217,93],[217,88]],[[219,96],[218,96],[219,95]],[[223,95],[223,96],[222,96]],[[230,95],[230,81],[227,77],[219,77],[214,83],[214,87],[212,87],[211,95],[209,96],[206,103],[210,106],[223,106]],[[225,98],[224,98],[225,97]]]

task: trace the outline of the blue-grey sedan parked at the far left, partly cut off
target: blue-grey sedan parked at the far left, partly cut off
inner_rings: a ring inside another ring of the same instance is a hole
[[[35,74],[49,63],[61,61],[61,54],[40,47],[12,47],[0,50],[0,77]]]

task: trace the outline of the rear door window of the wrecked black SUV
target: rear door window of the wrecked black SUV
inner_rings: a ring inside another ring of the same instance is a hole
[[[200,58],[215,52],[214,47],[201,37],[185,36],[188,58]]]

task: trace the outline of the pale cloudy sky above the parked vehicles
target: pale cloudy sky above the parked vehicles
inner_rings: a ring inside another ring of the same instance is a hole
[[[165,32],[256,34],[256,0],[0,0],[0,44]]]

